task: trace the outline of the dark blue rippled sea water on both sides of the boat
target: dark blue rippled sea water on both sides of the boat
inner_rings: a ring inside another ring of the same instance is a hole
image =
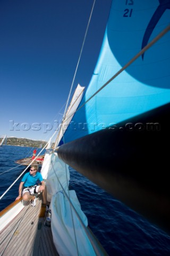
[[[0,195],[18,178],[24,166],[14,162],[32,155],[32,148],[0,148]],[[37,150],[38,152],[40,149]],[[44,152],[43,152],[44,153]],[[12,169],[11,171],[8,171]],[[8,172],[5,172],[8,171]],[[4,173],[5,172],[5,173]],[[110,256],[169,256],[170,237],[141,215],[70,168],[70,186],[77,193],[89,227]],[[21,178],[0,201],[0,210],[18,196]],[[84,255],[89,256],[89,255]]]

